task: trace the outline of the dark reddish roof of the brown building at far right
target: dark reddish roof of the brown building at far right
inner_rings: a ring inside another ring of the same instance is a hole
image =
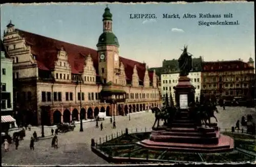
[[[212,67],[212,68],[211,68]],[[241,60],[203,62],[203,71],[254,69]]]

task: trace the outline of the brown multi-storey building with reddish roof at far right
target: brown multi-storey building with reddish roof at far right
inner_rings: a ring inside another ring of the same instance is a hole
[[[245,98],[252,85],[254,62],[242,60],[203,62],[202,92],[232,100]],[[251,86],[250,86],[251,85]]]

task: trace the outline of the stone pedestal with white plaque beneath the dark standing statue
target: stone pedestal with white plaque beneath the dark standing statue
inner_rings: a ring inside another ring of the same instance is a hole
[[[187,105],[191,102],[195,102],[195,87],[190,83],[190,78],[187,76],[180,76],[178,84],[174,86],[175,90],[175,101],[178,107],[181,107],[180,97],[187,97]],[[187,106],[188,107],[188,106]],[[181,107],[182,109],[182,107]]]

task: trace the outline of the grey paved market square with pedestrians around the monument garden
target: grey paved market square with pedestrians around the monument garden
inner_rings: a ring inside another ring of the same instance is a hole
[[[218,107],[219,113],[216,113],[218,118],[218,125],[222,128],[230,129],[231,126],[236,125],[237,120],[241,120],[241,117],[247,114],[252,114],[255,120],[255,109],[245,107],[226,107],[223,111],[221,107]],[[18,150],[15,150],[14,144],[10,145],[9,152],[4,152],[2,145],[2,163],[25,165],[25,164],[95,164],[95,163],[108,163],[105,160],[98,157],[91,151],[91,138],[98,139],[99,136],[116,134],[117,132],[124,132],[127,127],[129,129],[137,128],[141,129],[151,128],[155,121],[154,114],[150,112],[140,112],[131,114],[131,121],[129,116],[116,117],[116,129],[112,129],[110,119],[100,121],[103,123],[103,130],[95,128],[96,122],[83,123],[83,132],[79,132],[80,125],[77,124],[74,131],[67,133],[59,133],[58,135],[58,149],[51,147],[52,139],[41,139],[35,142],[35,150],[31,151],[29,148],[30,137],[34,131],[38,136],[41,135],[40,127],[32,127],[31,131],[26,131],[26,137],[19,143]],[[214,119],[212,119],[214,121]],[[45,135],[50,135],[51,128],[45,128]],[[12,133],[10,133],[12,134]]]

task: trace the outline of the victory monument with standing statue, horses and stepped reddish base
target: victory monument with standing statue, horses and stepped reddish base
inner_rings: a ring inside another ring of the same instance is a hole
[[[214,95],[202,95],[200,103],[195,102],[195,87],[187,77],[192,68],[191,54],[184,46],[178,62],[180,68],[179,82],[175,89],[176,106],[168,102],[166,94],[165,105],[161,109],[153,107],[155,123],[149,139],[137,144],[148,149],[187,152],[226,152],[233,150],[233,139],[220,134],[217,123],[211,123],[210,118],[217,118],[214,112],[216,98]],[[159,125],[164,120],[163,125]],[[156,125],[157,124],[157,125]]]

